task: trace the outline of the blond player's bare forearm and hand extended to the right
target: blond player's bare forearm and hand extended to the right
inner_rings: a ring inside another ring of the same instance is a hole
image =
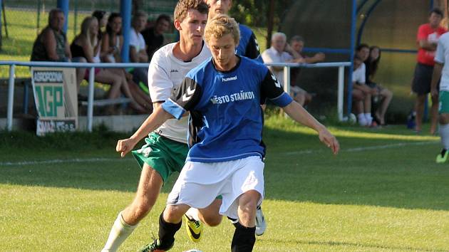
[[[289,117],[291,117],[291,119],[301,123],[301,125],[316,130],[319,135],[319,140],[329,147],[334,154],[339,153],[339,141],[336,140],[334,135],[332,135],[324,125],[311,116],[307,110],[304,110],[304,107],[299,105],[299,103],[292,101],[289,105],[282,107],[282,109],[289,115]]]

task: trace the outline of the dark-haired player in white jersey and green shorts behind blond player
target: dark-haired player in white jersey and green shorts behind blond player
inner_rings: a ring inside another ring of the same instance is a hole
[[[148,69],[148,86],[155,110],[180,87],[189,70],[210,58],[210,50],[203,41],[207,12],[208,6],[202,0],[180,0],[177,3],[174,24],[180,31],[180,41],[160,48]],[[146,145],[133,152],[142,168],[138,190],[133,202],[118,214],[103,251],[117,251],[152,209],[167,177],[180,172],[185,163],[187,117],[184,120],[167,120],[153,130],[148,132]],[[197,239],[200,238],[198,232],[200,230],[197,230]]]

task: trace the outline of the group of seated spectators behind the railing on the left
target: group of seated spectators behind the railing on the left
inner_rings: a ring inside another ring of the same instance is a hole
[[[66,17],[61,9],[52,9],[48,15],[48,26],[43,28],[33,43],[31,61],[60,61],[78,63],[116,63],[121,62],[123,49],[122,18],[120,14],[94,11],[81,23],[81,33],[69,43],[63,24]],[[133,16],[130,31],[130,62],[148,63],[153,53],[164,44],[164,36],[170,28],[170,16],[161,15],[153,26],[144,12],[138,11]],[[141,33],[145,34],[145,37]],[[105,98],[115,99],[120,96],[129,98],[130,107],[138,113],[148,114],[153,110],[153,103],[148,95],[148,68],[95,68],[95,81],[110,85]],[[76,68],[76,85],[78,100],[86,100],[79,93],[83,80],[87,80],[89,69]],[[115,110],[110,105],[109,112]]]

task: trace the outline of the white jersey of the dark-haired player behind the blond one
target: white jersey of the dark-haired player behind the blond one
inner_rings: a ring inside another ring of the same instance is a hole
[[[172,92],[180,87],[185,75],[212,56],[204,43],[198,56],[192,58],[192,61],[184,62],[173,56],[173,48],[176,44],[169,43],[163,46],[151,59],[150,68],[148,68],[148,89],[153,103],[168,100]],[[181,120],[167,120],[155,132],[171,140],[187,144],[187,128],[187,117],[183,117]]]

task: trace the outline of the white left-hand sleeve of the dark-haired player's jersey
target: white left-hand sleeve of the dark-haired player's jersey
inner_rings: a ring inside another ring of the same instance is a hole
[[[155,55],[148,68],[148,90],[153,103],[164,102],[172,93],[173,83],[160,55]]]

